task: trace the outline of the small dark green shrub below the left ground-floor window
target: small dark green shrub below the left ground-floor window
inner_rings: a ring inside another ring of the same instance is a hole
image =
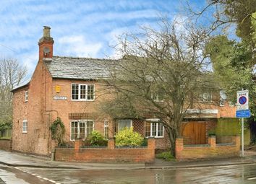
[[[85,139],[85,145],[88,146],[107,146],[108,141],[104,139],[104,136],[98,131],[92,131],[90,136]]]

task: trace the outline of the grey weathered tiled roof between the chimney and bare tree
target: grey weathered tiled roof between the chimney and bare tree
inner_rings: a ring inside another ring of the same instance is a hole
[[[54,56],[44,59],[44,62],[53,78],[106,79],[109,77],[109,66],[118,60]]]

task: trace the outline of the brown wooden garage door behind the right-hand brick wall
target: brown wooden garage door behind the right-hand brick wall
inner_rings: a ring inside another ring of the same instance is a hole
[[[205,127],[205,122],[184,123],[182,133],[184,144],[206,144]]]

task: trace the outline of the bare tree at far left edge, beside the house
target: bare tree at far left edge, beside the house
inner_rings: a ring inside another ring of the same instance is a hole
[[[0,59],[0,129],[12,125],[11,89],[24,82],[26,74],[26,67],[20,66],[17,60]]]

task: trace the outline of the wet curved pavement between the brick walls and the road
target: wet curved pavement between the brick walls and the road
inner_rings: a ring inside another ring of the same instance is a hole
[[[244,157],[232,157],[223,159],[200,159],[190,161],[165,162],[155,159],[151,163],[85,163],[85,162],[57,162],[46,157],[35,157],[16,152],[0,150],[0,164],[13,167],[38,167],[56,169],[80,169],[80,170],[162,170],[182,169],[192,167],[219,167],[227,165],[256,165],[256,152],[245,151]],[[1,183],[1,182],[0,182]]]

